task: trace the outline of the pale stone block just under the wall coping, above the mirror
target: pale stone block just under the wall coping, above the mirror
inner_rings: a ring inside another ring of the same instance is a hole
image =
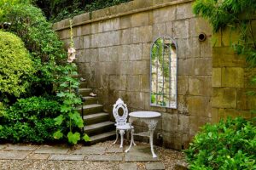
[[[165,8],[157,8],[153,11],[154,23],[161,23],[166,21],[175,20],[176,6]]]

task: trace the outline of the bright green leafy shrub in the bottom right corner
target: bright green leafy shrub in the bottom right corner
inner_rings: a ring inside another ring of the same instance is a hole
[[[191,169],[256,169],[255,124],[240,117],[207,124],[185,153]]]

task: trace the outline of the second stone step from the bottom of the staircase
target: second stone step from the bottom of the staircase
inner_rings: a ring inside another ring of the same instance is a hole
[[[99,122],[96,124],[85,125],[84,133],[87,133],[89,136],[94,134],[100,134],[112,131],[114,129],[114,122]]]

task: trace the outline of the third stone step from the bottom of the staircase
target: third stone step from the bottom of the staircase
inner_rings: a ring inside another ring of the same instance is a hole
[[[98,122],[106,122],[109,120],[109,114],[108,113],[96,113],[91,114],[83,117],[85,126],[95,124]]]

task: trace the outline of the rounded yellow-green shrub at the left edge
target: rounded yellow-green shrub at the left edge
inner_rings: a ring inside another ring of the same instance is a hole
[[[34,73],[32,59],[19,37],[0,31],[0,101],[26,92]]]

